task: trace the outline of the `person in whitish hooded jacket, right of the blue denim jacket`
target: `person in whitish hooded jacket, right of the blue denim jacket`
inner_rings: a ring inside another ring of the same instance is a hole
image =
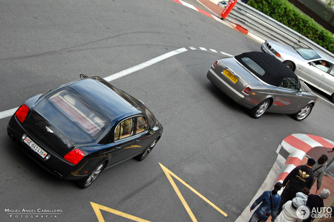
[[[283,210],[277,216],[275,222],[295,222],[298,217],[296,215],[296,209],[300,205],[305,205],[307,202],[307,195],[310,193],[310,190],[305,187],[302,189],[302,192],[298,192],[296,197],[292,200],[287,201],[283,205]]]

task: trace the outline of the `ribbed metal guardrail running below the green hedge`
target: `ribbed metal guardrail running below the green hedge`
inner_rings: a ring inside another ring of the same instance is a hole
[[[320,51],[325,56],[334,58],[334,54],[324,49],[320,45],[299,34],[295,30],[283,25],[268,15],[246,5],[242,2],[237,2],[227,20],[237,20],[242,22],[244,27],[254,31],[256,35],[263,39],[272,39],[279,42],[287,43],[291,46],[310,47]]]

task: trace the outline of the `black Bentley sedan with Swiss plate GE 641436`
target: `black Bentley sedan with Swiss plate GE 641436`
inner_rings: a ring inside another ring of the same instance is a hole
[[[55,176],[87,188],[102,170],[144,160],[163,127],[138,99],[100,77],[87,77],[25,101],[8,135]]]

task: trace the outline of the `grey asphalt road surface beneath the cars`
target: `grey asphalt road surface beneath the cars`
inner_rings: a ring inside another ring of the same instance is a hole
[[[254,120],[213,86],[206,72],[224,57],[220,51],[260,51],[260,43],[174,1],[0,4],[0,112],[80,73],[106,77],[187,49],[111,82],[142,100],[164,133],[145,161],[106,170],[85,190],[28,159],[7,136],[9,117],[0,119],[0,221],[232,222],[263,183],[285,137],[305,133],[333,140],[331,103],[319,99],[302,122],[269,113]],[[40,218],[23,208],[62,212]]]

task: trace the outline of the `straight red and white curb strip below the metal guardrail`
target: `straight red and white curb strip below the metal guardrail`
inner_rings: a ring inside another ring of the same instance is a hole
[[[231,28],[233,28],[233,29],[235,29],[235,30],[237,30],[237,31],[239,31],[239,32],[241,32],[241,33],[247,35],[248,37],[250,37],[250,38],[252,38],[252,39],[254,39],[254,40],[256,40],[256,41],[258,41],[258,42],[260,42],[260,43],[264,43],[264,42],[265,42],[264,39],[260,38],[260,37],[257,36],[257,35],[254,35],[254,34],[251,33],[251,32],[248,32],[248,30],[245,29],[244,27],[242,27],[241,25],[235,24],[235,23],[233,23],[233,22],[222,21],[222,20],[221,20],[220,18],[218,18],[217,16],[211,15],[210,13],[207,13],[207,12],[205,12],[205,11],[203,11],[203,10],[201,10],[201,9],[199,9],[199,8],[197,8],[197,7],[195,7],[195,6],[191,5],[191,4],[189,4],[189,3],[186,3],[186,2],[184,2],[184,1],[181,1],[181,0],[172,0],[172,1],[177,2],[177,3],[181,4],[181,5],[187,6],[188,8],[191,8],[191,9],[193,9],[193,10],[195,10],[195,11],[198,11],[198,12],[200,12],[200,13],[206,15],[206,16],[209,16],[210,18],[213,18],[213,19],[215,19],[215,20],[217,20],[217,21],[219,21],[219,22],[222,22],[222,23],[224,23],[225,25],[230,26]],[[202,4],[202,3],[201,3],[201,4]],[[203,5],[203,4],[202,4],[202,5]],[[203,6],[206,7],[205,5],[203,5]],[[206,8],[207,8],[207,7],[206,7]],[[207,9],[210,10],[209,8],[207,8]],[[211,11],[211,10],[210,10],[210,11]]]

